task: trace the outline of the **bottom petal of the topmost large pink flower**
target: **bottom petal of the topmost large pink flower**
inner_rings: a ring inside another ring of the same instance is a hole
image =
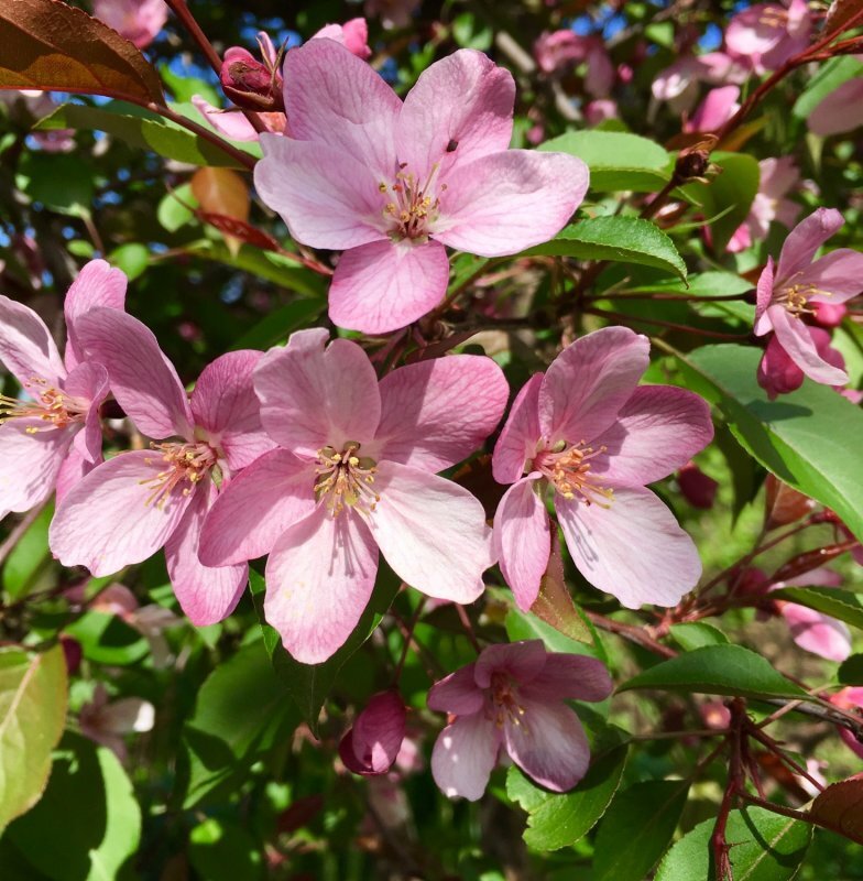
[[[329,289],[329,317],[339,327],[386,334],[422,318],[444,298],[449,261],[436,241],[373,241],[346,251]]]

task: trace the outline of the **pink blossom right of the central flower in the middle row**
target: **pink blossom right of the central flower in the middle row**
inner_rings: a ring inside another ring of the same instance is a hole
[[[494,545],[521,609],[548,566],[549,491],[576,566],[627,608],[674,606],[701,574],[691,539],[645,485],[710,443],[710,409],[685,389],[640,388],[648,351],[629,328],[596,330],[513,402],[492,460],[494,479],[513,483],[494,515]]]

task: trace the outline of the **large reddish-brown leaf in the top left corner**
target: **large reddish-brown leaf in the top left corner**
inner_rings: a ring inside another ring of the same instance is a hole
[[[0,46],[2,89],[164,102],[159,74],[132,43],[59,0],[3,0]]]

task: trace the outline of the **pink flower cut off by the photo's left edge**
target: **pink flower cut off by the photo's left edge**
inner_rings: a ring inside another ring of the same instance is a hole
[[[81,316],[96,306],[122,309],[125,275],[91,260],[66,294],[66,355],[35,312],[0,296],[0,361],[28,398],[0,396],[0,518],[29,511],[56,489],[63,496],[101,460],[99,405],[108,374],[85,359]]]

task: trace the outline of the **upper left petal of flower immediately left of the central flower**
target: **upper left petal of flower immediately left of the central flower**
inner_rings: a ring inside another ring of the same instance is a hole
[[[149,328],[106,308],[83,315],[77,328],[87,357],[108,370],[113,396],[140,432],[153,438],[192,437],[188,398]]]

